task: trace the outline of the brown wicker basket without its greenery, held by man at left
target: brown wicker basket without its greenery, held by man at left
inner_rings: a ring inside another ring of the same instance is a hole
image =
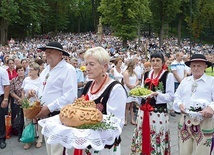
[[[41,106],[33,106],[27,109],[23,108],[24,116],[28,119],[33,119],[41,111],[41,109]]]

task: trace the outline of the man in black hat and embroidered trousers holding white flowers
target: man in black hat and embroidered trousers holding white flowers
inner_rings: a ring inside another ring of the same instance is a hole
[[[182,113],[179,154],[208,155],[214,146],[214,77],[206,75],[205,70],[212,63],[204,55],[194,54],[185,64],[192,76],[181,81],[174,99],[175,111]]]

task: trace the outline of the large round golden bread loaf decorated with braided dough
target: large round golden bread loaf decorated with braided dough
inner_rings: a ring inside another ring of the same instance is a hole
[[[73,104],[66,105],[60,110],[59,118],[66,126],[79,127],[101,122],[103,114],[96,108],[94,101],[78,98]]]

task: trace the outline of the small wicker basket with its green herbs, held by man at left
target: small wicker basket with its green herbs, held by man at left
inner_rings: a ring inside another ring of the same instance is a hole
[[[22,99],[21,108],[23,108],[24,116],[28,119],[33,119],[41,111],[42,106],[40,101],[34,101],[31,105],[27,98]]]

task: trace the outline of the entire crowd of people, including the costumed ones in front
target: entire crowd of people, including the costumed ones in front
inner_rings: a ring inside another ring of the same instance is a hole
[[[22,118],[12,132],[18,140],[29,123],[37,125],[35,147],[40,148],[43,136],[38,120],[59,114],[62,107],[84,95],[94,100],[103,114],[120,118],[121,127],[128,124],[131,115],[130,123],[136,126],[130,146],[132,155],[169,155],[169,115],[174,117],[176,113],[181,116],[180,154],[209,154],[214,145],[214,78],[205,71],[211,67],[213,72],[214,47],[197,44],[190,48],[188,40],[178,46],[172,37],[165,39],[160,48],[158,41],[142,37],[140,43],[131,41],[122,48],[119,38],[104,35],[98,40],[93,33],[11,39],[8,46],[0,47],[0,148],[6,147],[3,124],[8,109],[12,123],[17,115]],[[127,96],[131,89],[140,86],[152,90],[152,94],[147,98]],[[20,108],[23,98],[31,103],[39,98],[44,103],[35,119],[25,118]],[[188,110],[200,99],[207,104],[198,110],[202,119],[195,123]],[[120,155],[120,142],[118,137],[99,153]],[[23,148],[31,146],[32,143],[26,143]],[[73,151],[47,143],[46,149],[48,155]],[[85,152],[97,153],[93,148]]]

